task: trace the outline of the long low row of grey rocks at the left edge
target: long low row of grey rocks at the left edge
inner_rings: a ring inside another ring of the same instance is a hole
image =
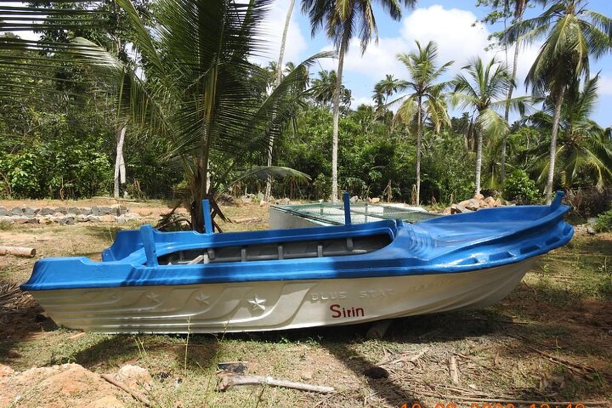
[[[0,222],[9,224],[52,224],[72,225],[75,223],[116,222],[138,220],[137,214],[119,204],[92,207],[0,207]]]

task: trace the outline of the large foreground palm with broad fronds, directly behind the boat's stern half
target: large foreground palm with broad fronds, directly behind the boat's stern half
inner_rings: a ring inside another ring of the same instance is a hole
[[[192,226],[203,231],[201,200],[212,199],[213,214],[220,214],[214,197],[222,182],[247,164],[244,157],[267,152],[271,136],[280,132],[304,96],[304,69],[317,56],[297,65],[262,98],[254,89],[266,89],[269,73],[249,57],[259,49],[263,2],[160,0],[155,28],[144,26],[129,0],[118,4],[132,17],[134,45],[145,62],[146,80],[132,71],[139,87],[132,105],[147,108],[133,114],[140,123],[146,118],[151,132],[170,140],[169,154],[185,171]],[[92,65],[115,69],[116,60],[92,44],[81,56]],[[211,158],[218,163],[212,172]],[[267,166],[246,174],[300,176]]]

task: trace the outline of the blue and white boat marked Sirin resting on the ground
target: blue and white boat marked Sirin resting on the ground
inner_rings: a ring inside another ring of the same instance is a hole
[[[569,207],[514,206],[416,224],[212,233],[121,231],[102,262],[37,261],[29,291],[58,325],[210,333],[354,324],[479,308],[572,238]],[[348,200],[345,201],[348,209]]]

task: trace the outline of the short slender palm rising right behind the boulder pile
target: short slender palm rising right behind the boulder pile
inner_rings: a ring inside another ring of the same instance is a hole
[[[507,122],[499,116],[495,109],[503,108],[507,104],[522,108],[522,102],[526,100],[526,97],[506,98],[508,89],[514,83],[506,67],[494,58],[485,65],[479,57],[462,70],[467,72],[469,79],[463,73],[457,74],[453,80],[455,90],[452,93],[451,102],[454,106],[468,108],[472,111],[472,130],[477,134],[475,194],[480,194],[483,134],[487,133],[490,137],[496,137],[507,132]]]

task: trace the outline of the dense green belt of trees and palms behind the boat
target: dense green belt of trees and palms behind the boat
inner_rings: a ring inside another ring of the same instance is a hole
[[[184,1],[3,9],[6,20],[26,13],[43,24],[39,42],[0,37],[0,56],[10,61],[0,65],[2,198],[123,190],[180,199],[201,229],[200,199],[230,191],[326,199],[348,190],[447,204],[481,190],[540,202],[559,188],[594,200],[583,192],[612,188],[612,131],[591,119],[599,76],[588,69],[610,51],[612,24],[584,1],[479,2],[491,10],[484,21],[508,24],[494,34],[497,45],[545,40],[529,97],[512,97],[523,80],[515,78],[517,52],[512,69],[474,57],[447,83],[451,62],[437,61],[427,42],[397,56],[405,79],[381,73],[373,106],[351,106],[341,70],[349,40],[357,37],[363,51],[376,38],[376,2],[301,2],[313,32],[324,31],[338,51],[337,70],[315,72],[331,53],[300,64],[283,65],[282,55],[265,67],[252,62],[264,46],[267,1]],[[416,4],[379,3],[395,19]],[[524,20],[527,7],[545,9]],[[449,117],[449,104],[465,112]],[[521,114],[512,124],[510,109]]]

